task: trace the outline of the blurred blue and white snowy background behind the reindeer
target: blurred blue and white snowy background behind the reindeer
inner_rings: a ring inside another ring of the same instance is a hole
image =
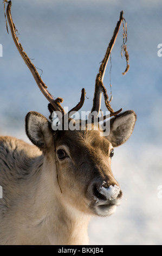
[[[129,141],[115,149],[112,170],[124,193],[121,206],[108,218],[93,218],[92,245],[162,245],[162,2],[160,0],[12,1],[12,17],[25,52],[55,97],[72,108],[87,92],[82,110],[90,110],[95,77],[112,38],[120,11],[127,21],[130,69],[121,59],[122,27],[112,52],[112,107],[133,109],[137,124]],[[5,27],[0,8],[0,133],[24,139],[29,111],[46,117],[47,100],[24,64]],[[104,84],[109,92],[109,68]],[[38,70],[39,71],[39,70]],[[39,71],[41,74],[41,71]],[[103,105],[104,106],[104,105]],[[104,107],[102,109],[104,110]],[[106,110],[106,109],[105,109]]]

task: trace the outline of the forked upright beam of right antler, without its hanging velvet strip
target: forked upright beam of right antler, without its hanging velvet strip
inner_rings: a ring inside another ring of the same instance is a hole
[[[112,36],[111,41],[109,42],[105,57],[103,58],[102,63],[100,65],[99,74],[96,76],[95,93],[94,93],[93,107],[92,107],[91,112],[96,111],[99,114],[100,108],[101,108],[102,92],[103,92],[103,95],[104,95],[104,98],[105,98],[105,105],[106,105],[108,111],[110,111],[111,113],[114,112],[110,103],[109,103],[109,101],[108,101],[107,90],[106,90],[105,86],[103,85],[103,78],[104,78],[104,75],[105,75],[105,70],[106,70],[108,60],[109,60],[109,56],[111,55],[111,51],[113,49],[113,46],[114,46],[115,41],[116,41],[116,37],[117,37],[119,29],[120,29],[120,25],[121,25],[121,22],[122,22],[122,19],[123,19],[123,14],[124,14],[124,11],[121,11],[120,12],[120,19],[116,24],[116,27],[114,29],[114,34]]]

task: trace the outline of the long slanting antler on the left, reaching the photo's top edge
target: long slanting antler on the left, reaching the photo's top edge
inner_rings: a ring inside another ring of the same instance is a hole
[[[14,39],[17,50],[20,52],[21,57],[23,58],[25,64],[27,64],[29,70],[31,71],[31,74],[33,75],[33,77],[34,77],[38,87],[40,88],[41,92],[43,93],[43,95],[51,103],[51,105],[53,106],[55,111],[61,111],[63,113],[63,108],[60,106],[60,102],[62,102],[63,99],[61,99],[61,98],[56,99],[56,100],[53,99],[53,96],[48,92],[47,86],[42,81],[42,78],[38,74],[34,64],[31,63],[31,60],[29,59],[27,53],[25,53],[23,51],[22,45],[18,42],[18,38],[15,33],[16,28],[12,21],[12,16],[11,16],[11,4],[12,4],[12,2],[9,1],[8,6],[7,6],[7,18],[8,18],[8,22],[9,22],[9,26],[10,26],[10,30],[11,30],[11,35],[12,35],[12,38]]]

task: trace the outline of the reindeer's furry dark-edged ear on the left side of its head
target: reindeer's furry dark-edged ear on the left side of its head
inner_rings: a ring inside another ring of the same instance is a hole
[[[49,121],[37,112],[31,111],[27,114],[25,130],[30,141],[41,150],[48,147],[53,137]]]

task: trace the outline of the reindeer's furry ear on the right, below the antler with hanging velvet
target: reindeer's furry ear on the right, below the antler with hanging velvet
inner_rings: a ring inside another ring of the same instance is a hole
[[[125,143],[132,135],[137,115],[134,111],[128,110],[110,120],[110,133],[106,137],[113,147]]]

